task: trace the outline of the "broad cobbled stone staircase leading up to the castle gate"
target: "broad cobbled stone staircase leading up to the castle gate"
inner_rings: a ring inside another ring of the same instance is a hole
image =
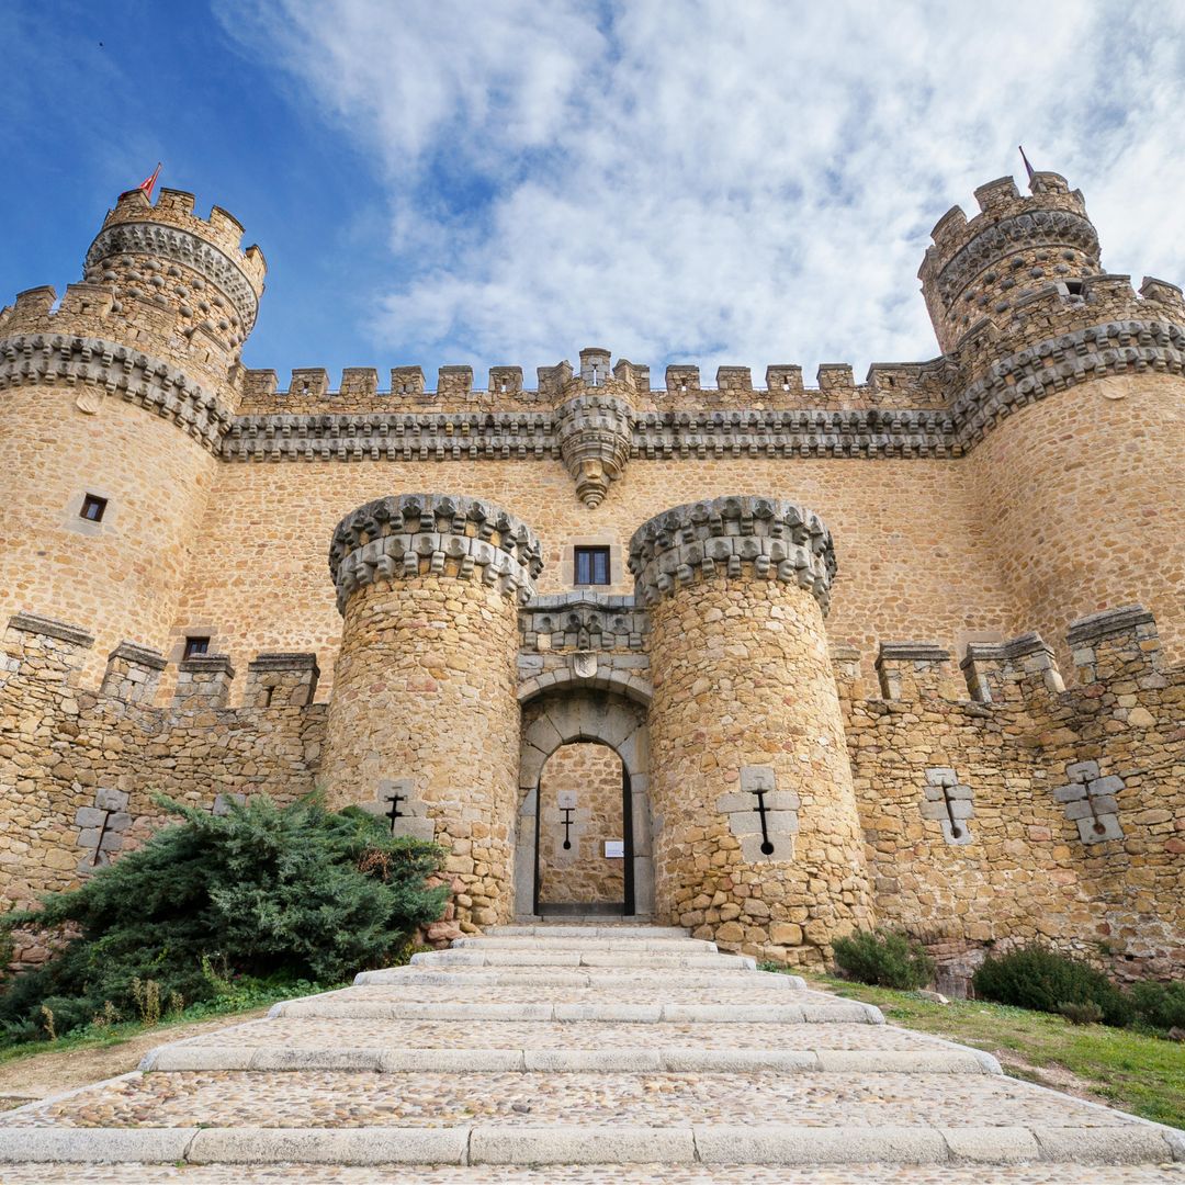
[[[1151,1181],[1185,1133],[683,930],[502,927],[0,1117],[0,1180]]]

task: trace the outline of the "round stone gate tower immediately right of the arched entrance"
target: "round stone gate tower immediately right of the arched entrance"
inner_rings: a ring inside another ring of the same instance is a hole
[[[643,524],[629,566],[651,610],[658,914],[818,965],[872,923],[824,632],[831,536],[792,502],[718,498]]]

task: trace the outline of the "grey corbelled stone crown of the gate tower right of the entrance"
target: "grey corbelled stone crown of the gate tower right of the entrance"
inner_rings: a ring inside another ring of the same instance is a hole
[[[629,570],[647,607],[699,578],[745,574],[809,589],[826,613],[835,549],[814,511],[781,498],[716,498],[643,523],[629,540]]]

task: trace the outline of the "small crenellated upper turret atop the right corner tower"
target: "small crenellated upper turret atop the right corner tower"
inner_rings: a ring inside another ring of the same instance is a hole
[[[988,181],[971,222],[954,206],[934,228],[917,275],[943,353],[985,319],[1007,324],[1018,297],[1102,270],[1082,191],[1058,173],[1035,173],[1030,188],[1021,197],[1011,177]]]

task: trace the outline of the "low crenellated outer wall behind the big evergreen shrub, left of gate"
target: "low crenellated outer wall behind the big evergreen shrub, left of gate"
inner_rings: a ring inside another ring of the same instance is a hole
[[[111,694],[87,678],[92,646],[82,630],[41,619],[17,617],[4,634],[0,895],[7,904],[32,904],[137,846],[166,819],[154,794],[220,809],[230,796],[267,793],[287,802],[315,788],[324,704],[229,709],[216,684],[187,698],[188,706],[146,705],[132,680]],[[118,659],[111,667],[127,671]]]

